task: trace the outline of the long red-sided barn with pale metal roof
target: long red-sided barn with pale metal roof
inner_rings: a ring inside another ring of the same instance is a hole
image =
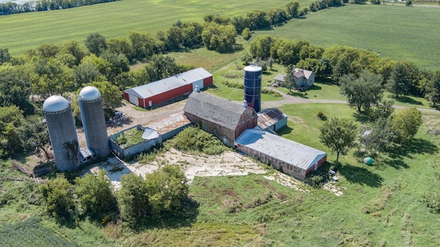
[[[124,90],[124,99],[136,106],[147,108],[191,93],[196,87],[202,89],[211,84],[211,73],[203,68],[191,69],[169,78],[126,89]]]

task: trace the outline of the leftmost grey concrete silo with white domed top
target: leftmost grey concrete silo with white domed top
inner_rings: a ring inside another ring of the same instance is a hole
[[[48,97],[43,103],[43,112],[56,168],[61,172],[77,169],[80,165],[80,147],[69,101],[59,95]]]

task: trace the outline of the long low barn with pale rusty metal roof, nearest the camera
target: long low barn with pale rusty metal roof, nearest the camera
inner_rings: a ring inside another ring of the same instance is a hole
[[[263,130],[245,130],[235,140],[235,147],[300,180],[327,161],[326,152]]]

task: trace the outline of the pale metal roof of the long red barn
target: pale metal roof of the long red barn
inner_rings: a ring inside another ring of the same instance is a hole
[[[172,89],[177,89],[180,86],[185,86],[187,84],[192,84],[193,82],[209,78],[210,76],[212,76],[212,74],[203,68],[191,69],[190,71],[179,73],[177,75],[170,76],[169,78],[150,82],[142,86],[136,86],[132,89],[126,89],[124,92],[135,95],[136,97],[142,99],[146,99],[160,93],[165,93],[166,91],[170,91]]]

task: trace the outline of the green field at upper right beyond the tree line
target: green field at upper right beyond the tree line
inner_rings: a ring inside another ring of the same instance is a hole
[[[345,5],[307,14],[281,27],[259,31],[277,38],[308,40],[328,48],[347,45],[369,49],[421,69],[440,69],[440,8],[403,5]]]

